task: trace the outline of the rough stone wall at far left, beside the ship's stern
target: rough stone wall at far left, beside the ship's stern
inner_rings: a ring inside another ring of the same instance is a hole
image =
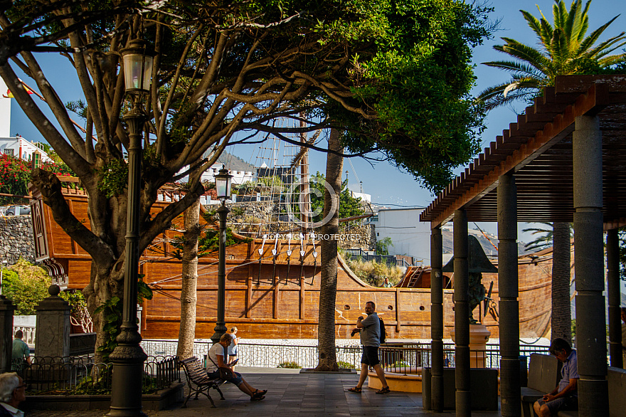
[[[19,258],[35,261],[31,216],[3,216],[0,219],[0,260],[14,265]]]

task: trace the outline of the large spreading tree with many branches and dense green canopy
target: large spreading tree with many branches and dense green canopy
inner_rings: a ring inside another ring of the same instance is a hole
[[[89,196],[87,228],[71,213],[56,176],[33,174],[55,221],[92,257],[84,290],[90,312],[122,297],[129,138],[118,68],[120,51],[136,38],[155,52],[141,159],[140,251],[202,194],[203,169],[228,144],[257,132],[294,142],[285,135],[341,127],[349,149],[379,149],[433,189],[447,184],[451,169],[478,149],[471,128],[479,115],[468,96],[470,44],[486,33],[484,10],[460,1],[7,5],[0,9],[6,10],[0,14],[0,76]],[[75,68],[85,104],[70,107],[85,117],[86,134],[70,120],[37,51],[57,51]],[[40,109],[43,102],[26,93],[16,66],[34,80],[59,128]],[[304,127],[272,123],[300,114],[309,117]],[[184,176],[186,167],[186,196],[151,213],[159,187]],[[104,324],[95,317],[98,344],[106,342]]]

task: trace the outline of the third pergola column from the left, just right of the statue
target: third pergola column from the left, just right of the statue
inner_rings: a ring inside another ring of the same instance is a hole
[[[511,173],[498,184],[498,288],[500,295],[500,401],[502,416],[521,415],[517,187]]]

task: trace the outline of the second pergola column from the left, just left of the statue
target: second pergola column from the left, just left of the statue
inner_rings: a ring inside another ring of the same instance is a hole
[[[470,396],[470,285],[467,262],[469,242],[467,238],[467,212],[455,210],[455,386],[456,415],[471,416]]]

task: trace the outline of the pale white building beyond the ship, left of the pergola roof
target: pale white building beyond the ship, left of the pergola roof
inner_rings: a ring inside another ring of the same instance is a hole
[[[430,222],[421,222],[423,208],[380,209],[370,223],[376,225],[376,241],[390,238],[389,255],[408,255],[415,264],[430,265]]]

